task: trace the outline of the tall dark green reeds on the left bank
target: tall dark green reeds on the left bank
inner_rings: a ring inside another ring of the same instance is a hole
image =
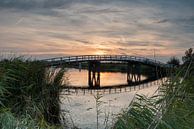
[[[59,93],[64,70],[39,61],[0,62],[0,128],[60,128]]]

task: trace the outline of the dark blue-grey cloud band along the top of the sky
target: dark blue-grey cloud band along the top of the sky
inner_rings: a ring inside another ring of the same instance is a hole
[[[193,0],[1,0],[0,7],[2,8],[19,8],[19,9],[31,9],[31,8],[60,8],[60,7],[68,7],[74,3],[89,3],[94,5],[99,4],[112,4],[115,3],[117,5],[134,5],[134,6],[158,6],[161,8],[174,7],[178,8],[181,6],[189,6],[193,7]],[[108,12],[115,12],[114,10],[104,10]],[[98,11],[97,11],[98,12]],[[99,12],[101,12],[99,10]],[[117,12],[117,11],[116,11]]]

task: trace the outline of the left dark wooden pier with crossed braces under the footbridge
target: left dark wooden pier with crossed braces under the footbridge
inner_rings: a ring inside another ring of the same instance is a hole
[[[88,85],[89,87],[100,87],[100,61],[88,62]]]

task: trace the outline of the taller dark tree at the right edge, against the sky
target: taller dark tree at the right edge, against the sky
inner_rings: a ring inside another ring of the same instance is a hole
[[[184,64],[187,64],[190,61],[194,62],[194,53],[192,48],[189,48],[188,50],[186,50],[185,56],[182,57],[182,60]]]

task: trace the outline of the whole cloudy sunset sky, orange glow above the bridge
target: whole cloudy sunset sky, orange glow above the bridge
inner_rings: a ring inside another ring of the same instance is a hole
[[[194,0],[0,0],[1,55],[155,55],[165,62],[191,47]]]

